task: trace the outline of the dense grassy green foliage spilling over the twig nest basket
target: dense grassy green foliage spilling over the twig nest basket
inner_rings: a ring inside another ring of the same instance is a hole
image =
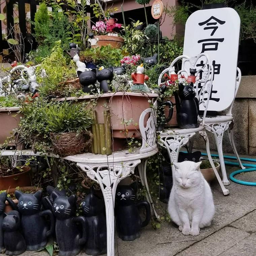
[[[46,102],[39,97],[30,103],[24,103],[21,112],[24,118],[16,132],[34,149],[42,152],[51,148],[51,132],[78,133],[87,130],[92,124],[91,109],[85,102]]]

